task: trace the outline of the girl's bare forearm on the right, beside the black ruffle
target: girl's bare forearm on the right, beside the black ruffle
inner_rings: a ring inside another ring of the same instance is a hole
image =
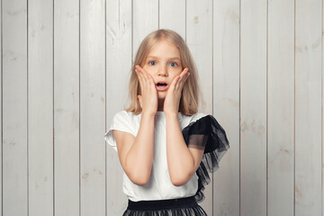
[[[194,159],[184,142],[177,114],[166,115],[166,157],[173,184],[189,181]]]

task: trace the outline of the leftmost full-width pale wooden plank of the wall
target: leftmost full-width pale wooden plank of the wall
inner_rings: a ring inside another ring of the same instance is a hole
[[[28,214],[27,1],[4,1],[3,11],[3,214],[24,216]]]

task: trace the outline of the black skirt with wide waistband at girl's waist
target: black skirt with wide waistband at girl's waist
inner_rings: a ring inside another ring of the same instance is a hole
[[[207,216],[194,196],[171,199],[128,202],[122,216]]]

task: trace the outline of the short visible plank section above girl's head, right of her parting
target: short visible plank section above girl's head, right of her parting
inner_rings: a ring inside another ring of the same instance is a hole
[[[185,0],[159,1],[159,29],[176,31],[185,40]]]

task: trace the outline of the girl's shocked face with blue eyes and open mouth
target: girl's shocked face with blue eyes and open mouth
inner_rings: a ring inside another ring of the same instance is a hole
[[[180,52],[172,43],[161,40],[150,49],[143,69],[153,77],[157,97],[164,99],[172,80],[183,71]],[[166,86],[157,83],[166,83]]]

